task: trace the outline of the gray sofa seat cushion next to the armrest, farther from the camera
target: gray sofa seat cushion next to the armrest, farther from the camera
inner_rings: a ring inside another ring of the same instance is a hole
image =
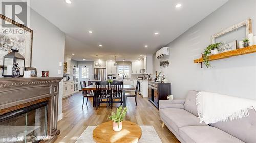
[[[184,109],[165,108],[160,109],[160,117],[166,121],[170,127],[179,133],[179,128],[184,126],[208,126],[205,123],[200,123],[199,118],[189,113]]]

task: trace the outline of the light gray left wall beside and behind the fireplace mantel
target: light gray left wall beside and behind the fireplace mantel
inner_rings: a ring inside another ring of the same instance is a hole
[[[33,33],[32,67],[37,68],[37,75],[41,71],[49,71],[50,77],[63,77],[65,33],[46,20],[44,17],[30,10],[30,28]],[[58,74],[61,70],[61,74]],[[58,117],[62,118],[63,80],[59,84]]]

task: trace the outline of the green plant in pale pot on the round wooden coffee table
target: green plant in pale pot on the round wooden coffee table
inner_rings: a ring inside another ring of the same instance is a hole
[[[123,108],[120,106],[117,108],[116,113],[112,112],[109,116],[109,119],[113,121],[113,130],[118,132],[122,130],[122,121],[123,118],[126,116],[127,107]]]

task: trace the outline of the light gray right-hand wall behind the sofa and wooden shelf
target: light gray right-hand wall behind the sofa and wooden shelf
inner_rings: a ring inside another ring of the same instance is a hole
[[[256,1],[228,1],[167,45],[170,55],[161,60],[169,60],[169,67],[160,69],[160,60],[154,58],[154,72],[162,71],[166,75],[176,99],[184,99],[190,89],[256,99],[256,53],[211,61],[212,68],[203,65],[201,69],[200,64],[193,63],[211,43],[211,35],[247,18],[252,19],[256,34]],[[245,28],[217,40],[230,42],[243,38]]]

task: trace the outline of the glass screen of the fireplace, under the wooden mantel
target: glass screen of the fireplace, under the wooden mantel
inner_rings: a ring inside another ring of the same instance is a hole
[[[40,142],[47,135],[47,102],[0,116],[0,143]]]

